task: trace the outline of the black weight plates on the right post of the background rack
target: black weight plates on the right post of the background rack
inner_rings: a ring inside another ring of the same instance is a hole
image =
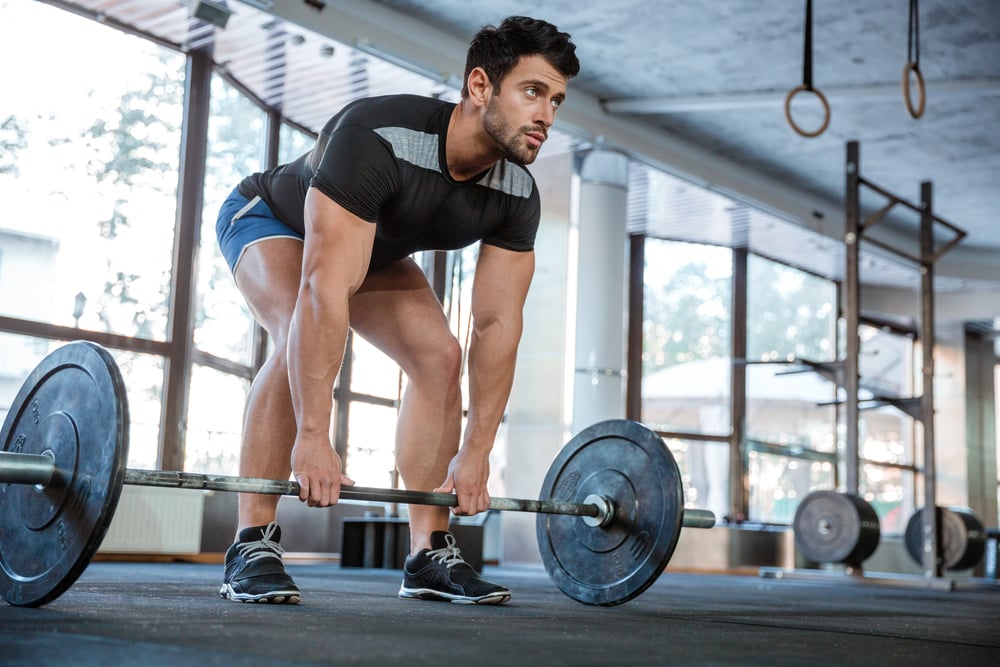
[[[938,507],[938,557],[944,569],[968,570],[986,553],[986,531],[972,510],[963,507]],[[917,565],[924,562],[923,509],[918,509],[906,523],[906,551]]]

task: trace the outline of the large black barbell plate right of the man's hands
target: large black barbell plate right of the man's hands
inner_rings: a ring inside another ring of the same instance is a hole
[[[541,500],[583,503],[610,498],[616,512],[604,527],[581,517],[539,514],[538,549],[559,589],[585,604],[618,605],[660,576],[677,546],[684,488],[666,444],[624,419],[581,431],[549,467]]]

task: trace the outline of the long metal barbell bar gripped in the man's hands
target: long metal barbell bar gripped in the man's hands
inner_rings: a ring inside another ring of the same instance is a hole
[[[17,454],[0,452],[0,483],[34,484],[47,486],[56,474],[55,459],[46,454]],[[125,484],[160,488],[196,489],[203,491],[224,491],[235,493],[259,493],[269,495],[298,496],[299,483],[263,479],[260,477],[237,477],[232,475],[206,475],[194,472],[171,470],[125,471]],[[592,498],[592,500],[591,500]],[[409,505],[435,505],[457,507],[458,498],[453,493],[431,491],[411,491],[408,489],[380,489],[366,486],[342,486],[340,500],[363,502],[401,503]],[[490,498],[490,509],[502,512],[531,512],[535,514],[559,514],[591,518],[588,525],[604,526],[614,520],[617,507],[611,498],[588,497],[590,502],[572,503],[553,500],[526,500],[523,498]],[[708,510],[685,509],[682,525],[686,528],[711,528],[715,525],[715,514]]]

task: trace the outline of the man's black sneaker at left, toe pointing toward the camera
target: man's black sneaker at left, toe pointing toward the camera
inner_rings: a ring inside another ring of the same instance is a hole
[[[298,586],[285,573],[278,542],[281,528],[272,521],[240,531],[240,541],[226,551],[226,575],[219,595],[236,602],[298,604]]]

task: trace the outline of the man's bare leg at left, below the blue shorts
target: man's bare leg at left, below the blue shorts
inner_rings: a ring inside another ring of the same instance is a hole
[[[268,239],[248,247],[236,268],[236,284],[274,345],[247,399],[240,449],[240,475],[244,477],[291,476],[296,425],[288,388],[286,343],[301,271],[302,242],[289,238]],[[243,528],[273,521],[278,499],[240,494],[237,536]]]

